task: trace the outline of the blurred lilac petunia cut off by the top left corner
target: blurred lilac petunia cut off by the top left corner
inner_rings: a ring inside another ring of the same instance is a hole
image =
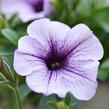
[[[7,18],[17,14],[23,22],[43,18],[51,11],[51,0],[0,0],[1,13]]]

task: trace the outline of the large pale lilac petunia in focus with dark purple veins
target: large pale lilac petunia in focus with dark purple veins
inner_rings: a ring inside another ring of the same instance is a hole
[[[32,22],[27,33],[18,42],[14,68],[32,91],[59,97],[71,92],[80,100],[94,96],[103,48],[85,24],[70,28],[44,18]]]

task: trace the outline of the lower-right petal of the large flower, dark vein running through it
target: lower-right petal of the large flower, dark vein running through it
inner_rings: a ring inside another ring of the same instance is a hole
[[[70,62],[69,62],[70,63]],[[68,64],[61,76],[68,84],[68,89],[80,100],[91,99],[97,88],[97,61],[77,61]]]

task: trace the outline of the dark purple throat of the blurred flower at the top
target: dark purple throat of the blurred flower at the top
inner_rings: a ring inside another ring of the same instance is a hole
[[[34,8],[35,12],[41,12],[43,11],[43,5],[44,5],[44,1],[43,0],[36,0],[36,3],[31,4]]]

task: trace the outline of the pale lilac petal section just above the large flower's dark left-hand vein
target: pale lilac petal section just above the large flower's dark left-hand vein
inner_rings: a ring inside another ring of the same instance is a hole
[[[36,57],[46,57],[49,52],[49,46],[43,46],[37,40],[24,36],[18,41],[18,50]]]

